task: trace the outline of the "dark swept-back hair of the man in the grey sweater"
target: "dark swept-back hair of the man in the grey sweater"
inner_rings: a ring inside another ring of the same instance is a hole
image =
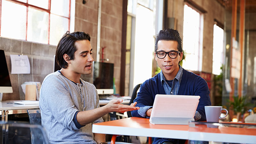
[[[85,32],[70,33],[69,31],[67,31],[66,34],[62,36],[61,40],[59,40],[56,53],[55,53],[56,61],[61,68],[68,67],[68,63],[64,60],[63,55],[68,54],[69,56],[68,60],[75,59],[74,53],[75,51],[77,51],[75,42],[82,41],[82,40],[91,41],[91,37],[89,34],[86,34]]]

